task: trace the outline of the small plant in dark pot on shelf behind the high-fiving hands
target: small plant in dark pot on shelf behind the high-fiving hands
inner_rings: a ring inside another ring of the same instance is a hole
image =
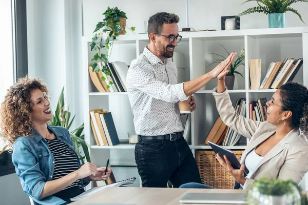
[[[226,48],[219,44],[220,46],[222,46],[224,48],[224,50],[226,51],[227,53],[227,56],[230,55],[230,53],[226,50]],[[221,61],[225,60],[226,57],[222,56],[222,55],[219,55],[217,53],[210,53],[210,54],[213,54],[213,55],[217,55],[219,57],[221,57],[221,59],[215,59],[213,63],[209,64],[208,66],[212,65],[212,64],[219,64],[221,63]],[[243,48],[242,51],[241,51],[241,54],[240,55],[237,55],[237,59],[233,61],[233,63],[231,64],[230,66],[230,70],[228,72],[228,74],[226,75],[225,77],[225,83],[226,83],[226,87],[229,89],[229,90],[233,90],[233,87],[234,87],[234,79],[235,79],[235,73],[236,74],[239,74],[243,77],[243,75],[236,71],[236,69],[239,67],[239,66],[245,66],[245,49]],[[208,67],[207,66],[207,67]]]

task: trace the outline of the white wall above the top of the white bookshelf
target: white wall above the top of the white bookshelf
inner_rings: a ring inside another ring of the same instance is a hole
[[[221,16],[237,15],[247,8],[257,6],[256,2],[241,5],[244,0],[190,0],[189,26],[196,30],[216,29],[221,30]],[[98,22],[102,21],[102,13],[108,6],[118,6],[126,12],[127,25],[135,26],[137,33],[144,33],[144,21],[156,12],[169,12],[179,15],[179,29],[186,27],[186,0],[83,0],[84,36],[92,36]],[[305,23],[308,24],[308,4],[296,3],[292,6],[298,9]],[[241,29],[268,28],[267,16],[263,13],[249,14],[240,17]],[[286,26],[306,26],[292,12],[286,12]],[[128,31],[129,33],[129,31]]]

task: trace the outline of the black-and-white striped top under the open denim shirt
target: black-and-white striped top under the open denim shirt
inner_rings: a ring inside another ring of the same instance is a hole
[[[46,139],[46,141],[48,142],[49,150],[54,157],[54,171],[52,180],[64,177],[79,169],[77,163],[77,160],[79,159],[70,147],[57,138]],[[63,190],[71,188],[79,188],[84,190],[80,180],[74,181],[70,186]]]

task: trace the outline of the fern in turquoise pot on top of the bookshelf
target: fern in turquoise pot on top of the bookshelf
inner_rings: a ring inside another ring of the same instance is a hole
[[[290,6],[296,2],[308,2],[308,0],[248,0],[246,2],[251,2],[251,1],[256,1],[258,6],[246,9],[237,16],[242,16],[249,13],[264,13],[265,15],[268,14],[269,28],[284,28],[285,12],[291,11],[295,13],[299,17],[299,19],[304,23],[298,10]]]

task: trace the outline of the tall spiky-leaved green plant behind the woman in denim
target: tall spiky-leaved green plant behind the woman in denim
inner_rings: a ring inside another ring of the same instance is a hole
[[[53,114],[53,118],[48,122],[48,125],[61,126],[69,130],[71,128],[75,115],[72,118],[70,118],[71,113],[69,112],[69,106],[67,110],[65,109],[65,100],[63,92],[64,92],[64,87],[61,91],[57,107]],[[75,151],[78,154],[78,157],[82,165],[85,163],[85,159],[86,161],[89,162],[91,161],[88,146],[85,142],[85,135],[82,134],[83,130],[84,130],[84,124],[74,129],[73,131],[70,131],[70,137],[74,142]]]

